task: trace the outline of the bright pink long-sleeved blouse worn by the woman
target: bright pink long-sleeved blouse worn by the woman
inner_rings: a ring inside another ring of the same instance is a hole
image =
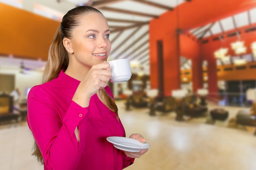
[[[27,122],[43,155],[45,170],[122,170],[134,159],[109,143],[125,137],[116,114],[93,95],[90,106],[72,101],[79,81],[63,71],[56,79],[34,86],[27,99]],[[106,92],[113,97],[108,86]],[[74,134],[79,128],[80,141]]]

